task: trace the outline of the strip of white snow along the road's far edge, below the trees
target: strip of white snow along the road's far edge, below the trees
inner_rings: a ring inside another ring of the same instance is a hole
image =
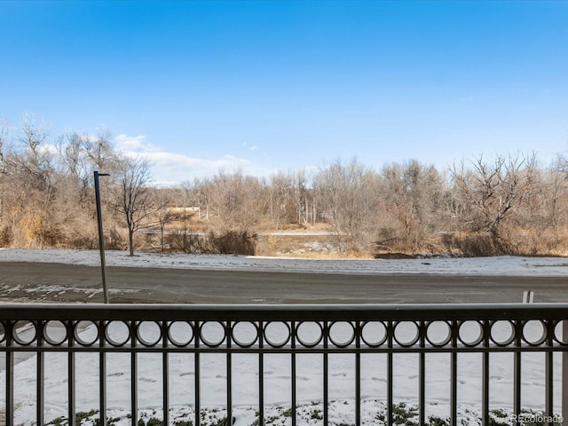
[[[0,262],[100,264],[98,250],[0,248]],[[564,257],[424,257],[416,259],[304,259],[262,256],[188,255],[106,251],[108,266],[224,271],[278,271],[358,274],[468,274],[509,276],[566,276]]]

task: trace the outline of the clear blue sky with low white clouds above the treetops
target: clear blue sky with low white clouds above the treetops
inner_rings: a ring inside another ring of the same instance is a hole
[[[159,181],[568,151],[568,2],[0,3],[0,117]]]

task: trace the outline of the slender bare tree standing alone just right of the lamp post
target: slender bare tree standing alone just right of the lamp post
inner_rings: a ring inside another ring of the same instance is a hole
[[[150,163],[146,159],[119,158],[112,185],[113,201],[128,229],[130,256],[134,256],[134,233],[154,211],[150,180]]]

